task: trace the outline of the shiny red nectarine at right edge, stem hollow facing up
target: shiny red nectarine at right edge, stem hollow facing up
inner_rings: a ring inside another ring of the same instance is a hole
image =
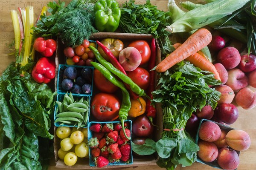
[[[251,72],[256,69],[256,56],[255,55],[242,55],[241,61],[238,65],[239,69],[243,72]]]

